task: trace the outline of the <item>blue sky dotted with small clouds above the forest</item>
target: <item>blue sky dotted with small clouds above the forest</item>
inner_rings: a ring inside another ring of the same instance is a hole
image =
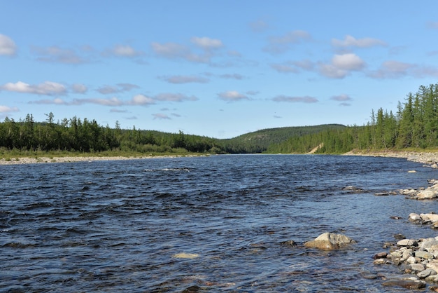
[[[0,121],[232,138],[438,83],[438,1],[0,1]]]

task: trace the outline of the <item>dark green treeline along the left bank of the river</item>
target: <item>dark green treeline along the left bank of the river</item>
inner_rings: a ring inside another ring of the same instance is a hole
[[[5,118],[0,123],[0,148],[25,151],[99,152],[127,151],[137,153],[168,153],[174,151],[221,152],[218,139],[166,133],[154,130],[121,129],[101,126],[87,118],[63,118],[55,123],[54,115],[47,121],[36,122],[31,114],[24,120]]]

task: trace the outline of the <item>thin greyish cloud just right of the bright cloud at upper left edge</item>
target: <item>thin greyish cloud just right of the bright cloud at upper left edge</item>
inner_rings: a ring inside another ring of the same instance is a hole
[[[31,47],[31,51],[38,55],[36,60],[42,62],[63,64],[84,64],[90,62],[87,58],[80,56],[76,50],[59,48],[58,46],[47,48]]]

